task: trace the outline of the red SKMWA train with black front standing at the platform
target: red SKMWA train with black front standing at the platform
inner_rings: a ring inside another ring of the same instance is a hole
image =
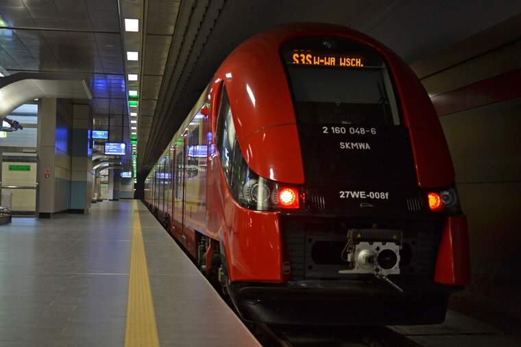
[[[428,324],[470,281],[437,114],[359,32],[285,25],[215,73],[145,202],[245,320]]]

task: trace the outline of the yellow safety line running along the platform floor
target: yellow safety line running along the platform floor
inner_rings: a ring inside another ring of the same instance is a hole
[[[125,331],[125,347],[132,346],[159,346],[145,245],[135,201],[130,280],[128,281],[127,329]]]

